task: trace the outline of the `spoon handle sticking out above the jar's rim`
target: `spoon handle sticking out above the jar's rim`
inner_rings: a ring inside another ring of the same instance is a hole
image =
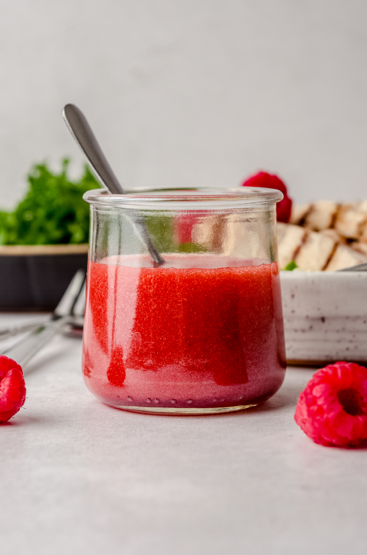
[[[91,169],[106,189],[114,195],[123,195],[121,187],[110,164],[107,162],[90,125],[83,112],[74,104],[67,104],[63,109],[63,117],[70,133],[84,152]]]

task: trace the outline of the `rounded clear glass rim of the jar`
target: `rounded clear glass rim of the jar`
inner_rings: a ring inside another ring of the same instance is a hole
[[[106,208],[198,210],[212,208],[259,208],[276,204],[283,199],[277,189],[262,187],[202,187],[172,189],[126,189],[125,194],[111,194],[106,189],[86,191],[85,202]],[[187,206],[185,204],[187,203]]]

